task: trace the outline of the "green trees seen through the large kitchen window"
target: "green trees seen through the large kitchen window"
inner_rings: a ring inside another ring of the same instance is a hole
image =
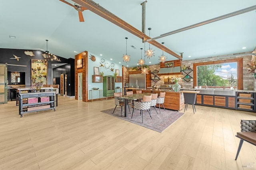
[[[198,86],[237,86],[237,80],[234,75],[231,74],[228,77],[216,75],[218,68],[221,68],[222,64],[203,65],[197,67],[197,85]]]

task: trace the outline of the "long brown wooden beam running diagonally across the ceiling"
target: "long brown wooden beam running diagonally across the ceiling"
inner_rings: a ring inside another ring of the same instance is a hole
[[[139,37],[143,41],[146,41],[147,39],[151,39],[150,37],[148,37],[142,31],[136,29],[135,27],[133,27],[132,25],[130,25],[126,21],[120,19],[118,16],[112,14],[111,12],[109,12],[108,10],[106,10],[105,8],[100,6],[99,4],[96,4],[92,0],[72,0],[72,1],[76,2],[77,4],[79,4],[79,5],[81,5],[85,8],[87,8],[90,11],[94,12],[98,16],[101,16],[102,18],[114,23],[118,27],[121,27],[122,29],[132,33],[133,35],[135,35],[136,37]],[[150,44],[154,45],[155,47],[165,51],[166,53],[182,60],[182,57],[180,55],[174,53],[172,50],[163,46],[161,43],[158,43],[156,40],[149,41],[148,43],[150,43]]]

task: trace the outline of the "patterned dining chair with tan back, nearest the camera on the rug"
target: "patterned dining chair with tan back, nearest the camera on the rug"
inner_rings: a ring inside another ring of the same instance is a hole
[[[142,97],[142,102],[136,102],[134,101],[134,106],[133,106],[133,110],[132,110],[132,115],[134,113],[134,109],[138,109],[140,110],[140,113],[142,115],[142,123],[143,123],[143,110],[147,110],[149,115],[150,115],[150,103],[151,103],[151,98],[152,96],[143,96]],[[151,115],[150,115],[151,117]],[[131,118],[132,119],[132,118]],[[152,119],[152,117],[151,117]]]

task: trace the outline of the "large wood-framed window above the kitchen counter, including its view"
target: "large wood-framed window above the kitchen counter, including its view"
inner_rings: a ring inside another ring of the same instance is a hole
[[[194,86],[235,87],[243,89],[243,59],[194,63]],[[228,68],[228,69],[227,69]],[[232,68],[232,69],[231,69]]]

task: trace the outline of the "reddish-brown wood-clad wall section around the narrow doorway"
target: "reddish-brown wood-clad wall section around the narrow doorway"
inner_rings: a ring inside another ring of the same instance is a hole
[[[76,68],[76,61],[82,59],[83,67]],[[84,51],[75,55],[75,99],[78,100],[78,73],[83,73],[83,89],[82,97],[83,102],[88,102],[88,52]]]

